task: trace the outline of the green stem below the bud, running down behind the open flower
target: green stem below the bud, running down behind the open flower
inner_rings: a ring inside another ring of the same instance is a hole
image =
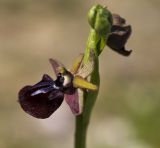
[[[87,62],[89,60],[89,54],[91,50],[91,44],[92,43],[92,49],[97,48],[94,42],[90,42],[91,39],[93,39],[93,36],[97,36],[97,34],[91,30],[87,47],[86,47],[86,53],[84,57],[83,62]],[[94,47],[94,48],[93,48]],[[95,50],[94,50],[95,51]],[[97,55],[97,53],[95,53]],[[99,78],[99,61],[98,56],[95,58],[95,67],[94,71],[91,74],[91,83],[96,84],[99,86],[100,78]],[[96,98],[98,95],[98,91],[96,92],[84,92],[84,109],[83,113],[80,116],[76,117],[76,127],[75,127],[75,148],[86,148],[86,138],[87,138],[87,129],[90,121],[91,112],[93,109],[93,106],[95,104]]]

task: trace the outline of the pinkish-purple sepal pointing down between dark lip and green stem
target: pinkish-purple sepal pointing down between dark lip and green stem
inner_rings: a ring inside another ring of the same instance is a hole
[[[80,90],[76,90],[73,95],[65,94],[65,100],[74,115],[80,115],[83,111],[83,97],[80,97],[80,93]]]

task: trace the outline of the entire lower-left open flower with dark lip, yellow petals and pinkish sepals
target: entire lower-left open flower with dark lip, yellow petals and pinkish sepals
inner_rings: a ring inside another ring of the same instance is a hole
[[[70,71],[60,62],[50,59],[57,79],[54,81],[45,74],[37,84],[22,88],[19,91],[22,109],[33,117],[48,118],[60,107],[65,98],[73,114],[81,114],[83,97],[80,97],[80,93],[85,89],[97,90],[97,86],[86,80],[94,68],[94,55],[86,65],[82,65],[82,59],[83,55],[80,55]]]

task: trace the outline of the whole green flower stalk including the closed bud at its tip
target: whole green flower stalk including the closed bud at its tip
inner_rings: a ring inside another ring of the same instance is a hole
[[[105,41],[111,30],[111,23],[108,18],[111,18],[110,12],[100,5],[93,6],[88,14],[88,20],[92,28],[88,37],[83,63],[85,64],[88,62],[90,54],[93,50],[95,61],[90,82],[97,86],[100,85],[98,56],[105,47]],[[95,92],[84,91],[83,113],[76,117],[75,148],[86,148],[87,128],[98,92],[99,89]]]

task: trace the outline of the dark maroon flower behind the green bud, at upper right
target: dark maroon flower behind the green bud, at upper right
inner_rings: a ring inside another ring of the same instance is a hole
[[[106,44],[117,53],[129,56],[132,50],[126,50],[125,44],[132,33],[132,27],[131,25],[126,25],[126,20],[118,14],[112,14],[112,18],[113,25]]]

